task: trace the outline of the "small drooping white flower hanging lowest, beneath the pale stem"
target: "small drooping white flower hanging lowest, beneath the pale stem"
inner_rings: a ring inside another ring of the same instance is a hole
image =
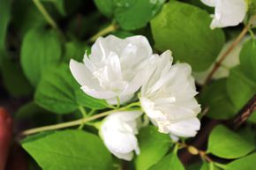
[[[139,154],[137,119],[141,111],[125,111],[109,115],[100,129],[101,137],[109,152],[118,159],[132,160],[133,151]]]

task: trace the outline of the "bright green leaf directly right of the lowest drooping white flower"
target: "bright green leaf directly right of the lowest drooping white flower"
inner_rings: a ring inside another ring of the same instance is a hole
[[[168,152],[170,143],[169,135],[159,133],[154,126],[147,126],[139,131],[140,153],[135,159],[137,170],[147,170],[157,163]]]

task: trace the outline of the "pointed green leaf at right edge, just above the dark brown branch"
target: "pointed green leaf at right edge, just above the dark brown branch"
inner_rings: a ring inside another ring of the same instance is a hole
[[[256,82],[248,78],[238,66],[230,70],[230,76],[227,79],[227,91],[234,106],[241,109],[256,92]]]

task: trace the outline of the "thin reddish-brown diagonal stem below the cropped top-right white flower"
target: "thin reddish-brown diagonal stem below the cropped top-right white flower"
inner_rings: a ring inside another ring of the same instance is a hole
[[[207,85],[207,83],[213,78],[216,70],[218,70],[223,62],[223,60],[230,54],[230,52],[237,46],[237,44],[242,41],[242,39],[245,37],[245,34],[248,32],[249,26],[245,26],[242,32],[237,36],[237,39],[230,45],[230,48],[227,49],[227,51],[221,56],[220,60],[215,63],[215,66],[213,70],[209,73],[207,76],[207,79],[203,86]]]

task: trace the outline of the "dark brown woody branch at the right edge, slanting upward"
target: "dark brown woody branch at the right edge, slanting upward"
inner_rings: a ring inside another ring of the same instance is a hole
[[[235,124],[234,129],[239,128],[246,120],[252,115],[256,110],[256,94],[252,96],[252,99],[247,102],[245,107],[243,107],[235,117],[233,123]]]

